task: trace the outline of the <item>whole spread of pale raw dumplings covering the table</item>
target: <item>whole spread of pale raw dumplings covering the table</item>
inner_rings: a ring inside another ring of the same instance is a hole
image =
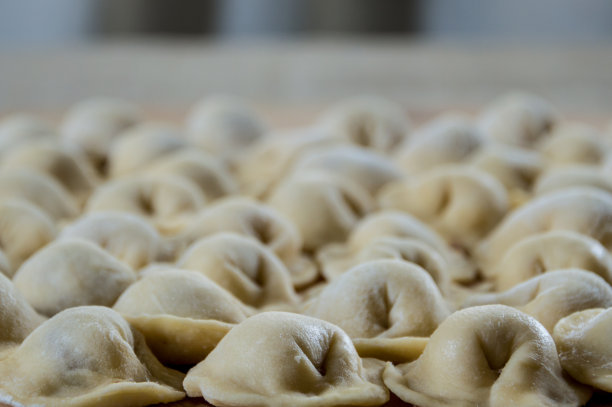
[[[419,125],[376,97],[282,130],[227,96],[6,116],[0,404],[585,405],[611,170],[612,132],[524,93]]]

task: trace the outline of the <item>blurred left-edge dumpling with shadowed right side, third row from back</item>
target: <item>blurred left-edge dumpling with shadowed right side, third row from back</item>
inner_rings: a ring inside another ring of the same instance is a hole
[[[15,148],[2,160],[2,169],[29,169],[49,175],[80,204],[98,183],[94,169],[84,157],[47,140]]]

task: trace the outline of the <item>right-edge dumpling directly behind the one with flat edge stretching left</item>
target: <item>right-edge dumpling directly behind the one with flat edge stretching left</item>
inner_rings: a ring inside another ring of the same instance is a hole
[[[592,271],[612,283],[612,255],[606,248],[593,238],[563,230],[520,240],[488,277],[503,291],[549,270],[566,268]]]

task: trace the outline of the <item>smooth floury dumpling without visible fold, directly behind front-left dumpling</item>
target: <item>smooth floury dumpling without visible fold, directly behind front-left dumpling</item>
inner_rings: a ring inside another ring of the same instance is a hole
[[[17,270],[15,287],[44,315],[78,305],[111,306],[136,280],[125,264],[86,240],[60,240]]]

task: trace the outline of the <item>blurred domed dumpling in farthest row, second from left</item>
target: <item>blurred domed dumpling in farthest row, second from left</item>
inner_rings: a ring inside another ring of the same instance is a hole
[[[142,112],[117,99],[89,99],[64,116],[62,140],[87,154],[96,169],[105,172],[106,156],[114,138],[142,120]]]

